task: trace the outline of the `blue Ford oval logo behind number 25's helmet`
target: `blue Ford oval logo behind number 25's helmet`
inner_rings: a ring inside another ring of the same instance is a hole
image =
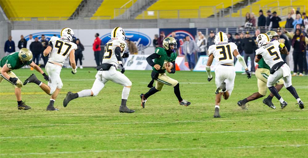
[[[124,33],[124,32],[123,32]],[[143,33],[136,32],[136,31],[125,31],[126,38],[129,38],[130,41],[133,41],[138,50],[141,48],[145,49],[151,45],[151,38]],[[110,40],[110,33],[103,35],[100,39],[104,44],[106,44]]]

